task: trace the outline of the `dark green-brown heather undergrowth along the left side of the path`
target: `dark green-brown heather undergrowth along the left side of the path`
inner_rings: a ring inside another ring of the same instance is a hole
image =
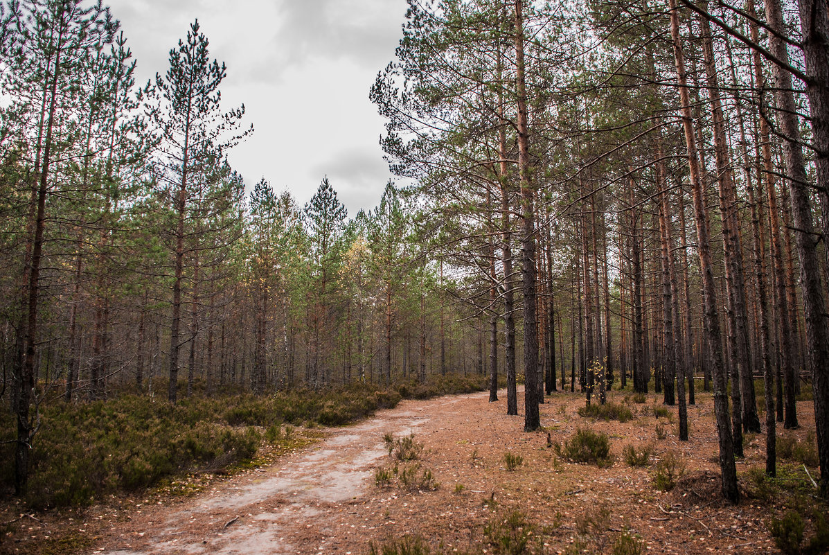
[[[269,455],[306,445],[315,426],[340,426],[395,407],[488,387],[481,376],[432,376],[392,387],[356,383],[325,392],[269,396],[196,395],[176,405],[161,397],[124,394],[106,401],[50,403],[32,442],[31,509],[84,506],[118,492],[169,484],[187,472],[227,473],[268,462]],[[298,427],[301,426],[301,429]],[[0,484],[12,493],[14,416],[0,416]],[[260,450],[265,447],[265,450]]]

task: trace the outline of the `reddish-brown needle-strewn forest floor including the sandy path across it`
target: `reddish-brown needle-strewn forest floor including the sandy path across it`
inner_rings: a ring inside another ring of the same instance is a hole
[[[506,393],[499,396],[493,403],[487,392],[404,401],[355,425],[298,431],[314,441],[267,465],[191,476],[194,483],[179,480],[89,509],[28,515],[5,507],[0,518],[9,531],[0,552],[356,555],[372,543],[379,550],[418,536],[437,553],[523,553],[507,549],[525,541],[527,553],[779,553],[769,518],[827,509],[808,494],[799,465],[780,465],[783,479],[773,489],[752,480],[749,469],[764,468],[764,435],[749,436],[738,460],[741,502],[723,502],[710,393],[698,392],[688,409],[687,442],[676,439],[676,407],[667,407],[667,417],[654,415],[653,407],[662,407],[654,393],[636,404],[629,393],[609,392],[608,401],[633,410],[633,419],[620,423],[579,416],[581,394],[554,392],[541,406],[544,427],[534,433],[522,431],[521,391],[519,416],[507,416]],[[802,427],[778,434],[813,437],[812,402],[797,409]],[[608,434],[612,464],[569,463],[548,446],[548,433],[563,443],[585,426]],[[424,449],[416,460],[395,463],[387,433],[414,435]],[[652,445],[651,465],[627,465],[628,444]],[[523,464],[507,470],[507,452]],[[654,464],[671,454],[685,475],[663,493],[653,484]],[[378,475],[388,484],[377,485]]]

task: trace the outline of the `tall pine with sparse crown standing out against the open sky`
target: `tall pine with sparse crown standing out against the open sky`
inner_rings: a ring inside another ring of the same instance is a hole
[[[244,184],[230,178],[225,154],[253,130],[238,133],[244,105],[221,112],[219,86],[225,65],[210,61],[208,44],[196,20],[186,39],[170,51],[166,74],[156,74],[155,85],[145,88],[145,109],[160,142],[151,167],[153,181],[171,210],[171,229],[166,231],[173,259],[170,402],[176,402],[179,350],[186,343],[180,336],[185,259],[198,249],[193,241],[210,231],[191,229],[191,217],[230,210],[239,202]],[[207,207],[210,204],[214,207]]]

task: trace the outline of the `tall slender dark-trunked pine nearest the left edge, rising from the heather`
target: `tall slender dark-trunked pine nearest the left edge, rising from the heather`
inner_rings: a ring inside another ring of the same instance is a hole
[[[107,44],[118,27],[98,2],[36,0],[10,5],[11,32],[2,41],[6,71],[2,94],[11,99],[6,114],[13,119],[27,168],[29,191],[25,255],[21,280],[17,355],[13,366],[17,409],[15,491],[26,492],[29,444],[35,431],[30,405],[36,376],[41,302],[41,265],[46,256],[46,201],[56,191],[55,160],[74,146],[69,112],[75,88],[96,43]],[[67,121],[68,120],[68,121]]]

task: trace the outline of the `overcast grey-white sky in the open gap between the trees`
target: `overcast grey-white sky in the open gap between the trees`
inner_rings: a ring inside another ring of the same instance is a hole
[[[138,61],[137,81],[167,71],[170,49],[199,20],[227,65],[224,109],[245,104],[255,133],[230,153],[247,187],[265,178],[300,206],[327,174],[353,217],[391,178],[368,100],[395,54],[405,0],[109,0]]]

